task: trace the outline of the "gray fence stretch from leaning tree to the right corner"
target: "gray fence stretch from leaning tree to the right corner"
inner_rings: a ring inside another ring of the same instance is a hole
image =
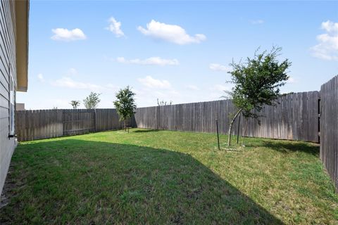
[[[300,92],[278,98],[261,111],[261,125],[249,119],[246,136],[319,142],[319,92]]]

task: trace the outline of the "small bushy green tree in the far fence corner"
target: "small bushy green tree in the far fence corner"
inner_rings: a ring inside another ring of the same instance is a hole
[[[113,103],[120,116],[120,121],[123,120],[124,122],[124,129],[126,129],[125,121],[130,119],[135,113],[134,110],[136,110],[136,104],[134,103],[135,94],[130,89],[130,86],[127,86],[125,89],[120,89],[115,96],[117,100]]]

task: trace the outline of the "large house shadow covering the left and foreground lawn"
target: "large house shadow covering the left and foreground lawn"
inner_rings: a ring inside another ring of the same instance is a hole
[[[82,140],[18,146],[3,224],[282,224],[190,155]]]

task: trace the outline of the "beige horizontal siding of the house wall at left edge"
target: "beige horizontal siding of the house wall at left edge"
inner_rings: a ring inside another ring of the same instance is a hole
[[[15,4],[1,0],[0,4],[0,193],[11,162],[15,139],[9,132],[9,66],[16,79],[15,58]],[[16,80],[15,80],[16,85]]]

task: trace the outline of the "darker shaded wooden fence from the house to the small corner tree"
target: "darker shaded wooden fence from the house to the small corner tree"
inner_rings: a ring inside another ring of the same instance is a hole
[[[134,119],[130,127],[136,127]],[[49,139],[122,129],[115,109],[96,110],[23,110],[15,112],[18,141]]]

